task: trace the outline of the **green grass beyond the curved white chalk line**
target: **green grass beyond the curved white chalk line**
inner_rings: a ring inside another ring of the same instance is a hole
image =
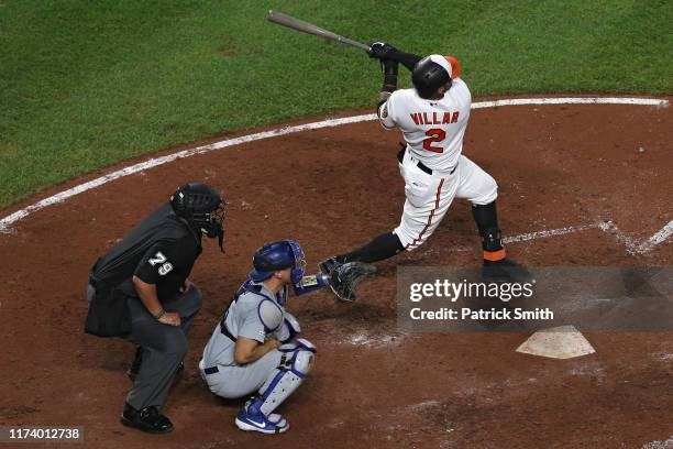
[[[0,208],[178,143],[372,107],[375,62],[268,9],[453,54],[475,97],[673,92],[670,1],[0,0]]]

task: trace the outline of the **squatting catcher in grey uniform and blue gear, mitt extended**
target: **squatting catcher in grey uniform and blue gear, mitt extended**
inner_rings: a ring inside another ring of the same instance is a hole
[[[329,285],[341,299],[352,300],[357,284],[375,269],[355,262],[340,266],[329,276],[305,276],[304,251],[294,240],[260,248],[253,266],[224,309],[199,369],[218,396],[238,398],[252,394],[239,410],[236,427],[280,434],[289,424],[273,412],[304,382],[316,353],[313,344],[297,338],[299,322],[285,310],[289,286],[296,295],[304,295]]]

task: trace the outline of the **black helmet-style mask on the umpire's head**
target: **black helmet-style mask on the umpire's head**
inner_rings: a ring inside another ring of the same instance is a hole
[[[178,217],[203,236],[210,239],[217,237],[220,250],[224,252],[227,201],[214,188],[206,184],[185,184],[170,197],[170,206]]]

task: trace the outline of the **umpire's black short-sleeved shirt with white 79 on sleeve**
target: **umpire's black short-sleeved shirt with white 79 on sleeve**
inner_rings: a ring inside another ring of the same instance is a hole
[[[89,306],[86,330],[100,336],[128,331],[130,317],[119,292],[139,296],[133,276],[155,284],[158,299],[164,303],[178,294],[200,253],[200,233],[177,217],[169,204],[155,210],[92,266],[90,283],[96,296]]]

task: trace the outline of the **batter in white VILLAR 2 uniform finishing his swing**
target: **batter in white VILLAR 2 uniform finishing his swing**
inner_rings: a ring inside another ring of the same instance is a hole
[[[384,86],[377,107],[386,130],[399,128],[406,145],[397,154],[405,179],[406,201],[391,232],[346,254],[321,263],[324,273],[351,261],[376,262],[423,244],[434,232],[454,198],[472,202],[482,237],[485,280],[525,280],[529,273],[506,258],[496,213],[497,184],[462,154],[472,96],[460,78],[461,64],[451,56],[420,56],[384,44],[369,55],[384,66]],[[412,70],[413,88],[397,90],[398,64]]]

